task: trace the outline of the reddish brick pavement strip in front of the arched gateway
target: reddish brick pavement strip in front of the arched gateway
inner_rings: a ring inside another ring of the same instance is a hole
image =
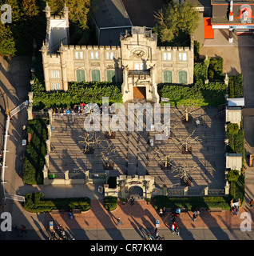
[[[248,207],[240,208],[240,214],[244,211],[250,212],[252,220],[254,219],[254,210]],[[244,219],[238,216],[233,216],[230,211],[222,211],[220,213],[201,213],[196,222],[192,221],[192,213],[181,213],[177,217],[177,225],[180,228],[187,229],[208,229],[208,228],[231,228],[239,229],[240,223]],[[121,217],[123,225],[116,226],[117,218]],[[85,230],[101,230],[101,229],[149,229],[155,227],[156,220],[160,220],[160,228],[169,228],[171,225],[171,214],[159,216],[152,205],[147,205],[146,202],[137,201],[133,206],[130,203],[126,205],[118,204],[117,210],[109,212],[103,206],[103,200],[92,200],[91,209],[82,214],[75,214],[75,218],[69,219],[69,214],[46,214],[45,227],[48,229],[49,222],[54,220],[54,223],[62,224],[67,230],[85,229]],[[252,222],[252,228],[254,227]]]

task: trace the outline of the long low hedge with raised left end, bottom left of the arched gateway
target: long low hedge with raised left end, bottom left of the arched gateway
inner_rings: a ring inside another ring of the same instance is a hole
[[[86,211],[90,209],[90,198],[54,198],[47,199],[40,192],[25,195],[24,209],[33,212],[50,212],[51,210]]]

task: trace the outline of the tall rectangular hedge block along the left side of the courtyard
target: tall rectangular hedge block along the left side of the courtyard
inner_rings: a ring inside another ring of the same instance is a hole
[[[43,166],[45,165],[46,139],[48,120],[34,119],[29,120],[27,125],[27,134],[31,134],[30,144],[27,140],[23,182],[26,184],[43,183]]]

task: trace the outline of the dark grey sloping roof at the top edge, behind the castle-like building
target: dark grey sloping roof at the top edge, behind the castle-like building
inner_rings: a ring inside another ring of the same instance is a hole
[[[93,17],[99,28],[132,26],[121,0],[95,0],[95,5]]]

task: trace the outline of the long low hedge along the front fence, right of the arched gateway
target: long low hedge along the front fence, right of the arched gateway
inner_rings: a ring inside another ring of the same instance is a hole
[[[155,210],[163,207],[176,209],[177,207],[192,210],[193,208],[221,208],[230,210],[229,198],[223,197],[192,197],[192,198],[172,198],[167,196],[156,196],[153,198]]]

